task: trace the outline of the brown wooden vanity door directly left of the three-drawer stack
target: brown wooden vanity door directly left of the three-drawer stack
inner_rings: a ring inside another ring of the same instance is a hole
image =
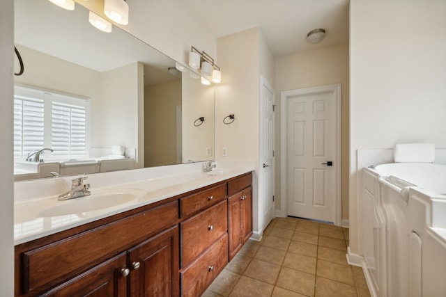
[[[130,296],[178,296],[178,226],[129,250]]]

